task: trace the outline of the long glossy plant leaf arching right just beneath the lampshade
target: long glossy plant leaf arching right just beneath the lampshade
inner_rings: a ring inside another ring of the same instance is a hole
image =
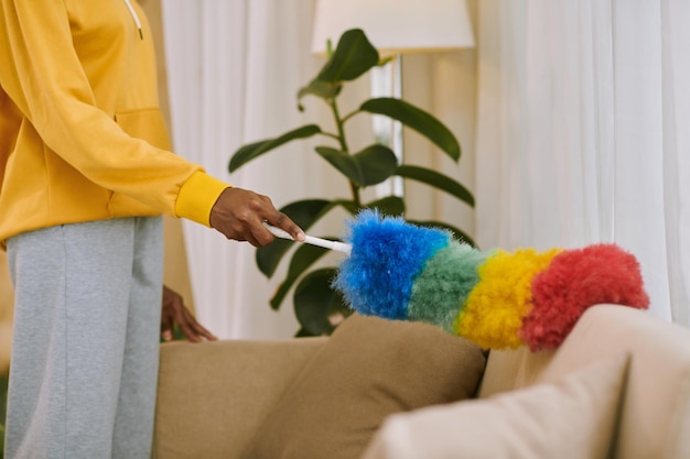
[[[402,124],[416,130],[442,151],[453,161],[460,160],[460,143],[450,129],[429,112],[414,107],[405,100],[392,97],[369,99],[360,107],[360,110],[369,113],[384,114],[400,121]]]

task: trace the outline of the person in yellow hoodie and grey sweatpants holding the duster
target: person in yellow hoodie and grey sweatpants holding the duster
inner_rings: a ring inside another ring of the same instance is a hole
[[[161,214],[302,240],[270,199],[170,152],[130,0],[0,0],[0,241],[15,289],[7,458],[149,458]]]

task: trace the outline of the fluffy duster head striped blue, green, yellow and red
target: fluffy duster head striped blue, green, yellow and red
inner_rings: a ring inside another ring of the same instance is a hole
[[[649,306],[637,260],[615,244],[479,251],[373,210],[346,240],[334,286],[356,312],[432,324],[483,348],[556,348],[590,306]]]

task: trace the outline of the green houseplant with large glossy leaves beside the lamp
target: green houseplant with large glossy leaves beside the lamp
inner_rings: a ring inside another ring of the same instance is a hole
[[[345,131],[346,123],[359,113],[369,113],[389,117],[401,122],[433,142],[453,161],[460,160],[460,144],[452,132],[428,112],[401,99],[371,98],[365,100],[351,113],[339,112],[337,101],[343,86],[382,63],[378,51],[369,43],[363,31],[346,31],[341,36],[335,51],[330,53],[319,75],[298,92],[298,108],[301,111],[304,110],[301,101],[305,96],[316,97],[328,106],[336,132],[327,132],[319,124],[306,124],[279,136],[244,145],[230,159],[228,167],[230,173],[288,142],[321,136],[334,145],[319,145],[315,147],[315,153],[347,178],[349,196],[338,199],[303,199],[281,208],[281,211],[290,216],[305,231],[336,207],[345,209],[353,216],[364,208],[378,208],[381,214],[403,216],[406,210],[403,197],[389,196],[369,203],[364,203],[362,199],[362,190],[365,187],[376,185],[392,176],[424,183],[474,206],[473,195],[462,184],[429,168],[398,164],[395,153],[387,145],[375,143],[360,151],[351,151]],[[416,223],[450,229],[456,237],[473,243],[467,234],[446,223],[438,221]],[[273,309],[280,308],[290,289],[294,287],[294,312],[302,327],[298,336],[327,335],[334,328],[331,319],[334,315],[347,316],[349,314],[341,295],[331,288],[336,267],[313,267],[314,263],[326,252],[325,249],[300,244],[291,251],[292,244],[292,241],[277,240],[268,247],[257,249],[257,265],[269,278],[276,273],[281,260],[288,253],[292,254],[288,273],[271,297],[270,305]]]

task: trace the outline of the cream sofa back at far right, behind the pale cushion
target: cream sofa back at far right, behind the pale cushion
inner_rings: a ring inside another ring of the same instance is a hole
[[[481,397],[552,382],[627,352],[615,458],[690,457],[690,329],[616,305],[589,309],[556,351],[492,351]]]

